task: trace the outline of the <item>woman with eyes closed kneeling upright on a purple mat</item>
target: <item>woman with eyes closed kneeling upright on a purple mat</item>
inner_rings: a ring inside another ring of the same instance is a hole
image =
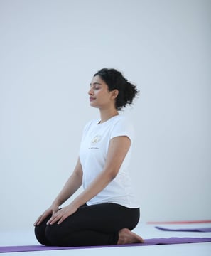
[[[43,245],[122,245],[144,240],[131,230],[139,222],[139,206],[129,180],[133,128],[119,110],[139,91],[117,70],[99,70],[90,84],[90,105],[100,120],[84,129],[75,169],[48,210],[36,220]],[[68,206],[59,208],[83,185]]]

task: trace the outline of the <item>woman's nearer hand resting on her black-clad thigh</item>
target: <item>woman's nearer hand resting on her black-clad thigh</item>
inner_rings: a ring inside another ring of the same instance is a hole
[[[71,203],[69,206],[65,206],[64,208],[58,210],[53,216],[48,220],[48,225],[53,225],[54,223],[60,224],[65,220],[67,217],[72,215],[77,211],[75,206],[72,206]]]

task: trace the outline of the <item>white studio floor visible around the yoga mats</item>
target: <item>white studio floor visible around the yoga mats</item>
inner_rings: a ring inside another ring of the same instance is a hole
[[[195,227],[210,227],[211,224],[188,224],[188,225],[161,225],[168,228],[195,228]],[[154,228],[154,225],[146,225],[141,223],[134,232],[139,233],[143,238],[171,238],[171,237],[193,237],[193,238],[211,238],[211,233],[193,233],[193,232],[172,232],[161,231]],[[38,245],[32,230],[15,231],[15,232],[0,232],[0,246],[7,245]],[[104,256],[104,255],[147,255],[147,256],[210,256],[211,242],[181,244],[181,245],[151,245],[143,247],[111,247],[111,248],[94,248],[94,249],[75,249],[75,250],[49,250],[40,252],[8,252],[1,253],[6,256]]]

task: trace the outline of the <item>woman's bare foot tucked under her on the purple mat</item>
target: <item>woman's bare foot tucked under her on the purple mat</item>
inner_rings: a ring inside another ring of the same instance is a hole
[[[119,240],[117,242],[117,245],[125,245],[138,242],[144,242],[144,239],[141,238],[139,235],[131,232],[131,230],[129,230],[128,228],[123,228],[119,231]]]

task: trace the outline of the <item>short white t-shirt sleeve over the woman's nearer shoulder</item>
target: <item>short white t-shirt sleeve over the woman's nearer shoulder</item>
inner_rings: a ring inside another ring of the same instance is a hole
[[[126,136],[129,137],[131,142],[134,141],[134,127],[129,119],[122,118],[114,124],[110,139],[118,136]]]

